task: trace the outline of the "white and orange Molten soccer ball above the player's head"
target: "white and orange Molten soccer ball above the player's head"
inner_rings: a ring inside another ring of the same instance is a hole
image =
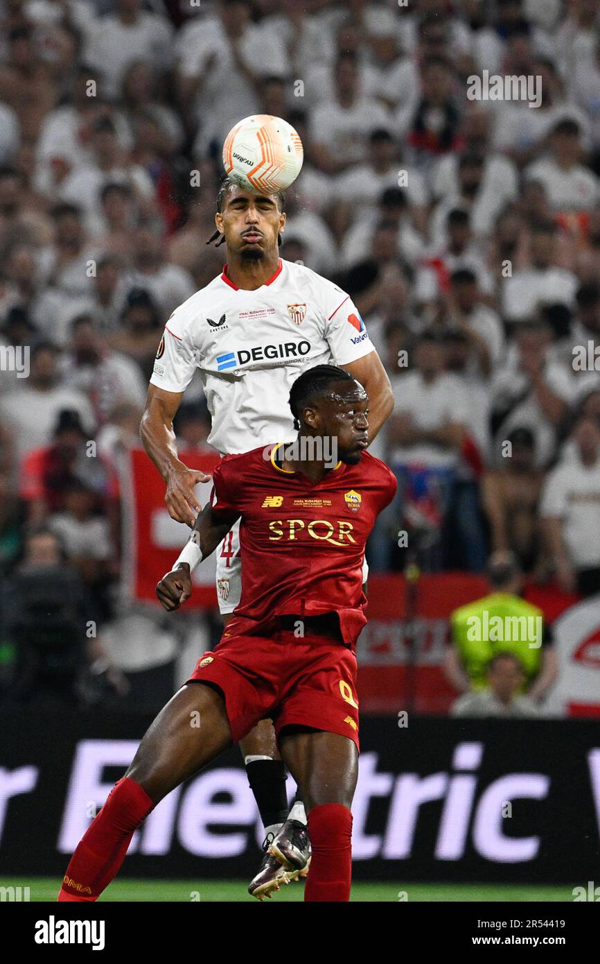
[[[231,128],[222,147],[225,173],[240,187],[273,194],[293,184],[304,159],[291,124],[270,114],[253,114]]]

